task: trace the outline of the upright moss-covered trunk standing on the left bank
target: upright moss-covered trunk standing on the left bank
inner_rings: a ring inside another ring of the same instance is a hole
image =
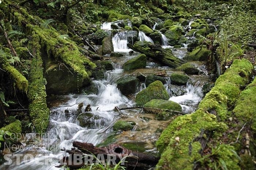
[[[48,128],[50,111],[46,105],[46,80],[42,67],[41,46],[39,45],[39,36],[37,34],[32,36],[29,49],[34,56],[29,76],[29,113],[30,117],[33,119],[35,130],[38,133],[44,133]]]

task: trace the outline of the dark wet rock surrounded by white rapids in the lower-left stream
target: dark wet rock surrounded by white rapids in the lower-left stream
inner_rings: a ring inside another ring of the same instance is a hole
[[[93,115],[92,113],[82,113],[79,115],[77,120],[81,127],[85,128],[92,128],[95,124],[95,120],[98,120],[99,116]]]

